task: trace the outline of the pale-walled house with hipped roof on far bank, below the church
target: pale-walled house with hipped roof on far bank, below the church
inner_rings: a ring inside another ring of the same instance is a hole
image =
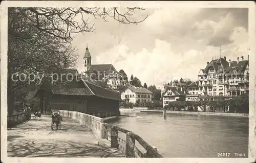
[[[129,103],[135,104],[136,101],[152,102],[153,92],[143,87],[127,86],[127,88],[121,93],[121,99]]]

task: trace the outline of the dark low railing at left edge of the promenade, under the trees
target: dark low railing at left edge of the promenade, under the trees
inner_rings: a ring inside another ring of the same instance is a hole
[[[26,113],[18,113],[13,115],[7,115],[7,128],[15,127],[29,120],[29,116]]]

